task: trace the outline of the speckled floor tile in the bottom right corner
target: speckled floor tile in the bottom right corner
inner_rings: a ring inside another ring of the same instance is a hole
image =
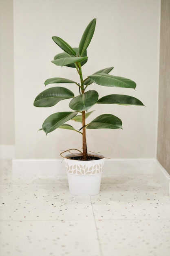
[[[100,220],[103,256],[169,256],[170,220]]]

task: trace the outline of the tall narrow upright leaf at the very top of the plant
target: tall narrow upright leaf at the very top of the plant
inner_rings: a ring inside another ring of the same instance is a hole
[[[95,25],[96,25],[96,19],[93,19],[86,27],[79,43],[79,56],[82,56],[84,54],[88,45],[90,44],[95,31]]]

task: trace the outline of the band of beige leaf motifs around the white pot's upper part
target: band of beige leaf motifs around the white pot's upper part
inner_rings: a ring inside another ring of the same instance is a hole
[[[104,168],[104,163],[87,165],[87,164],[69,164],[68,162],[66,162],[67,173],[78,174],[78,175],[99,174],[103,172],[103,168]]]

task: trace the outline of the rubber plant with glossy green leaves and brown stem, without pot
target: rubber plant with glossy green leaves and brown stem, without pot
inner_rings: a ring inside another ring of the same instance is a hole
[[[53,41],[64,51],[55,55],[54,60],[51,61],[57,66],[66,66],[75,69],[79,74],[79,81],[72,81],[66,78],[50,78],[47,79],[44,84],[63,84],[71,83],[77,86],[77,96],[73,94],[71,90],[64,87],[52,87],[41,92],[34,101],[36,107],[51,107],[64,99],[71,99],[69,102],[69,108],[73,111],[57,112],[47,117],[42,124],[42,128],[46,134],[52,132],[57,128],[64,128],[79,132],[82,135],[82,160],[90,160],[87,152],[86,143],[86,129],[118,129],[122,127],[122,121],[118,117],[111,114],[103,114],[97,116],[90,123],[86,123],[86,118],[91,114],[87,112],[95,104],[121,104],[121,105],[138,105],[144,106],[144,104],[135,97],[122,94],[110,94],[99,99],[99,94],[96,90],[90,89],[92,83],[97,85],[119,88],[133,88],[135,89],[136,83],[130,79],[110,75],[110,71],[113,67],[107,67],[99,70],[93,74],[84,78],[82,74],[82,66],[86,64],[88,60],[87,48],[91,42],[95,31],[96,19],[86,27],[82,38],[79,43],[79,47],[72,48],[66,41],[58,36],[53,36]],[[70,124],[66,124],[69,120],[75,120],[82,123],[79,130],[75,130]]]

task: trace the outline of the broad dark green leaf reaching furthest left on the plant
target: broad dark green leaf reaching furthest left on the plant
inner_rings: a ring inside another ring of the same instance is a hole
[[[34,101],[35,107],[51,107],[63,99],[73,98],[74,94],[64,87],[52,87],[41,92]]]

